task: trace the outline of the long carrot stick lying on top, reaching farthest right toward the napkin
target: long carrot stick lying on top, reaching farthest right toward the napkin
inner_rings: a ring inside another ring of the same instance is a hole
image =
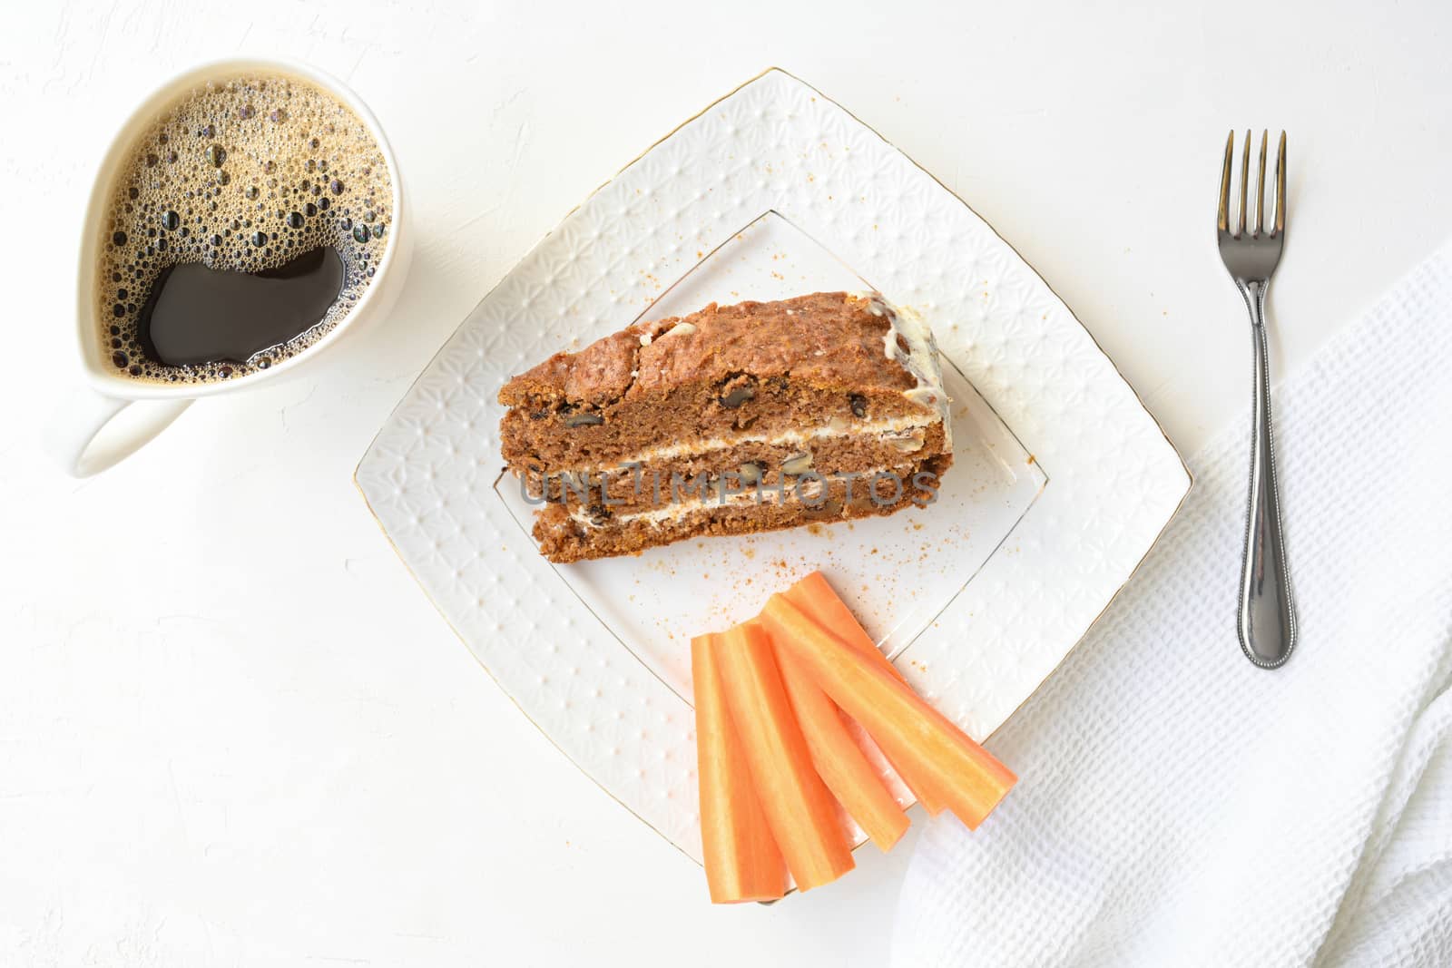
[[[968,829],[1003,800],[1018,778],[905,682],[849,647],[781,595],[761,612],[772,640],[799,659],[833,702],[903,766],[929,779]]]

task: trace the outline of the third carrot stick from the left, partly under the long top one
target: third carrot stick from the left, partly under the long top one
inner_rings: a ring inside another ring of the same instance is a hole
[[[842,808],[867,832],[884,853],[908,833],[908,814],[877,776],[858,749],[832,700],[791,656],[775,650],[781,682],[802,736],[812,752],[812,765]]]

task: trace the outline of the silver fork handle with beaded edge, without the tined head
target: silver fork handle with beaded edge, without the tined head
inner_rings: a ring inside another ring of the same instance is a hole
[[[1237,630],[1246,657],[1275,669],[1295,647],[1295,602],[1281,533],[1281,495],[1275,477],[1275,441],[1270,432],[1270,366],[1266,354],[1266,283],[1241,286],[1250,309],[1255,344],[1255,392],[1250,438],[1250,496],[1246,506],[1246,547],[1240,570]]]

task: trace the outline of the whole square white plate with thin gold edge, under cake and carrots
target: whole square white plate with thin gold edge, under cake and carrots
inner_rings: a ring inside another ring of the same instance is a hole
[[[932,325],[954,396],[938,504],[552,566],[501,477],[514,373],[639,318],[880,289]],[[688,637],[822,567],[913,685],[983,739],[1063,660],[1189,489],[1134,390],[960,199],[768,71],[603,186],[470,313],[359,464],[399,554],[499,685],[700,859]]]

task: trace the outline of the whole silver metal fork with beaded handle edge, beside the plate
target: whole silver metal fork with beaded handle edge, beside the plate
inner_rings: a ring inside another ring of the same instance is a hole
[[[1240,614],[1236,623],[1246,657],[1263,669],[1275,669],[1295,647],[1295,602],[1285,563],[1281,534],[1281,496],[1275,482],[1275,444],[1270,435],[1270,367],[1266,360],[1266,287],[1281,261],[1285,244],[1285,132],[1275,160],[1275,215],[1266,231],[1266,142],[1260,132],[1260,174],[1256,179],[1256,222],[1246,231],[1246,199],[1250,189],[1250,132],[1240,161],[1240,210],[1234,231],[1230,223],[1230,167],[1236,154],[1236,132],[1225,139],[1225,167],[1220,176],[1220,215],[1215,241],[1220,258],[1236,280],[1236,289],[1250,312],[1255,344],[1255,392],[1250,437],[1250,498],[1246,506],[1246,549],[1240,563]]]

